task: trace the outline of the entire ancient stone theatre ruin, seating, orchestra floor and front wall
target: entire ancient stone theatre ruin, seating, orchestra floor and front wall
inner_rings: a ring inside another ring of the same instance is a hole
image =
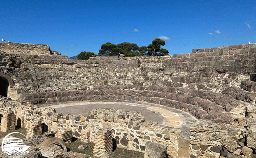
[[[66,144],[71,137],[95,143],[97,157],[114,144],[145,158],[153,158],[150,146],[159,158],[249,158],[256,153],[255,92],[256,43],[89,60],[51,54],[44,44],[0,43],[1,131],[56,131]],[[60,112],[89,105],[85,114]],[[154,115],[160,122],[147,120]]]

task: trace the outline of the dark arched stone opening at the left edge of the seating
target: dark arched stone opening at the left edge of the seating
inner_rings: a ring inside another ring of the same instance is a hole
[[[14,82],[7,74],[0,72],[0,83],[0,95],[7,97],[8,88],[12,88],[14,86]]]

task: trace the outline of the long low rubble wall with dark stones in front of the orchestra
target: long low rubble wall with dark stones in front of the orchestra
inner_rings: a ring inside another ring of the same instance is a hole
[[[94,143],[97,142],[97,132],[107,128],[112,130],[114,144],[119,148],[145,152],[145,144],[150,141],[166,145],[167,154],[172,158],[219,158],[228,153],[247,156],[255,148],[252,144],[256,143],[255,122],[246,128],[199,120],[192,125],[185,124],[181,129],[176,129],[151,121],[145,123],[144,117],[136,112],[103,108],[83,115],[62,115],[51,107],[37,108],[24,102],[18,105],[19,102],[1,98],[0,113],[5,114],[7,110],[13,110],[19,115],[20,110],[26,128],[30,127],[31,123],[36,123],[37,128],[42,130],[58,132],[66,128],[77,138],[81,138],[82,130],[86,130],[90,132],[87,137]],[[248,113],[248,120],[256,116],[256,110],[253,108],[250,108]],[[38,123],[42,123],[42,127],[38,126]],[[29,131],[30,135],[34,135],[39,130]]]

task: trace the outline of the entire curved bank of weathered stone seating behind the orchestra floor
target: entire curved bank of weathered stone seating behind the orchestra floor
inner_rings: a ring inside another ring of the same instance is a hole
[[[232,123],[234,115],[245,114],[247,104],[256,98],[253,92],[240,87],[241,80],[249,81],[255,72],[255,46],[241,44],[174,56],[90,60],[1,52],[0,72],[15,82],[9,88],[9,96],[32,104],[140,101],[181,109],[198,119]]]

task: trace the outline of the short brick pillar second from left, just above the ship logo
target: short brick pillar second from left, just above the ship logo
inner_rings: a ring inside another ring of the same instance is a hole
[[[28,122],[27,138],[35,135],[42,135],[42,121],[39,117]]]

